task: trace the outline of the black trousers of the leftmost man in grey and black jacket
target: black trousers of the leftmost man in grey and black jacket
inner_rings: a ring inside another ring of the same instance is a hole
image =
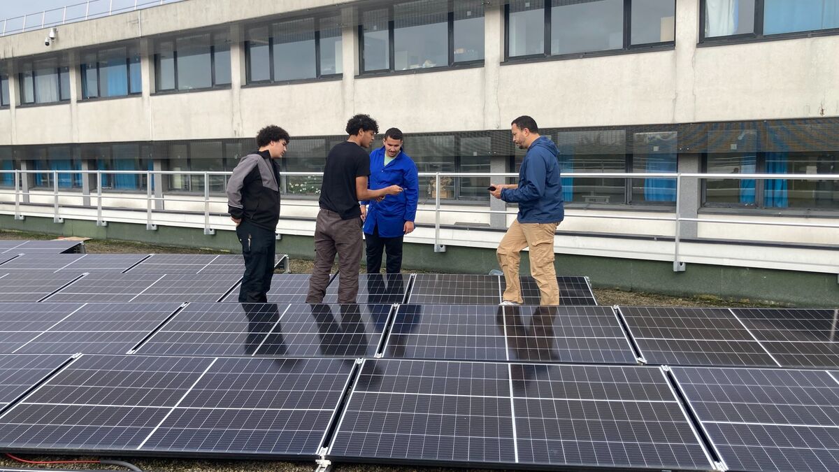
[[[277,239],[274,231],[242,220],[236,227],[236,236],[242,243],[245,258],[245,275],[239,287],[240,303],[267,303],[274,276],[274,254]]]

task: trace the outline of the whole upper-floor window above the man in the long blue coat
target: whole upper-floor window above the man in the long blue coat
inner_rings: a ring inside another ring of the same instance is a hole
[[[410,71],[483,60],[483,3],[418,0],[362,12],[362,71]]]

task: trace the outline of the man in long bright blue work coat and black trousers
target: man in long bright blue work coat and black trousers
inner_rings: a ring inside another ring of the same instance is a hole
[[[370,190],[401,186],[399,195],[380,201],[361,202],[364,238],[367,242],[367,274],[382,270],[382,249],[388,254],[388,274],[402,270],[402,239],[414,231],[420,181],[417,166],[402,150],[402,131],[390,128],[384,133],[383,147],[370,153]]]

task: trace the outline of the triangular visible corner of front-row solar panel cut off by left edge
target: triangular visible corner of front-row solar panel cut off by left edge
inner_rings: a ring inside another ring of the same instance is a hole
[[[66,355],[0,355],[0,412],[68,360]]]

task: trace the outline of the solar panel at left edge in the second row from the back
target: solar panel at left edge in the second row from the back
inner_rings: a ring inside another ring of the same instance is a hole
[[[23,254],[3,265],[10,273],[107,272],[120,273],[148,254]]]

